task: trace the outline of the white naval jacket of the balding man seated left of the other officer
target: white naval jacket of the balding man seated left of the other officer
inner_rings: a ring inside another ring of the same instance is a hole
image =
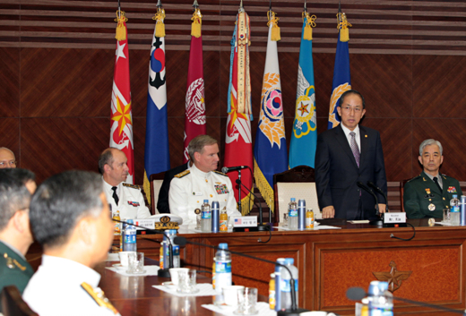
[[[105,182],[104,183],[104,192],[107,197],[107,201],[112,206],[112,212],[115,213],[116,210],[120,211],[121,219],[128,218],[149,218],[151,212],[145,206],[144,197],[142,196],[141,190],[133,184],[120,183],[116,186],[116,195],[118,195],[118,205],[115,203],[113,198],[112,186]]]

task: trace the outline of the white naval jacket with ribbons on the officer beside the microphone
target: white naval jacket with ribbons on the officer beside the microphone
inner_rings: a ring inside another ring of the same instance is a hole
[[[170,183],[168,203],[170,213],[183,218],[183,225],[195,224],[194,209],[201,209],[204,200],[219,201],[220,210],[227,208],[229,216],[241,216],[237,211],[235,192],[229,176],[217,171],[205,173],[195,165],[175,175]]]

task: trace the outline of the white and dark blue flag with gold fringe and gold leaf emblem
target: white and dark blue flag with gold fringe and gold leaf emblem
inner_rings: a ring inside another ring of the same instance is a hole
[[[265,69],[263,71],[263,89],[261,113],[254,147],[255,184],[263,199],[273,210],[273,175],[288,169],[288,150],[283,119],[283,102],[277,42],[271,39],[272,23],[269,27]]]

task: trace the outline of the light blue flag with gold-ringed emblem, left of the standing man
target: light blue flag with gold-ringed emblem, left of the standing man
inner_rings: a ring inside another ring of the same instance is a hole
[[[312,18],[315,19],[315,16]],[[314,167],[317,146],[317,115],[315,113],[314,65],[312,39],[305,39],[306,25],[312,19],[305,13],[301,46],[299,47],[298,88],[296,92],[295,121],[289,144],[289,168]],[[312,21],[314,23],[314,21]]]

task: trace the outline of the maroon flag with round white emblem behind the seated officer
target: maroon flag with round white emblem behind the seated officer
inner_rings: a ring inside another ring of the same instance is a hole
[[[198,135],[205,134],[205,103],[203,81],[203,38],[191,37],[189,69],[187,71],[185,149],[183,163],[189,160],[187,145]]]

